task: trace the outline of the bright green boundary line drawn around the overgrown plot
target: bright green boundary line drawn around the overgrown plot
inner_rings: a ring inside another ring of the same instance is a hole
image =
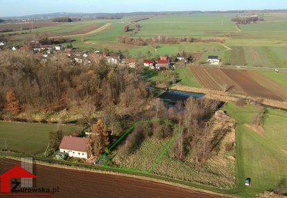
[[[117,144],[119,144],[121,141],[123,141],[123,138],[125,138],[128,134],[130,134],[130,132],[132,131],[132,129],[134,129],[134,127],[139,125],[139,123],[156,123],[156,122],[163,122],[163,123],[166,123],[168,125],[171,125],[177,129],[177,132],[176,132],[176,134],[173,135],[173,137],[171,138],[171,141],[169,141],[166,144],[166,146],[164,147],[164,150],[159,154],[159,156],[157,156],[157,159],[155,159],[155,161],[153,162],[153,164],[150,166],[150,168],[148,170],[138,170],[138,169],[133,169],[133,168],[118,168],[118,167],[111,167],[110,165],[107,165],[107,163],[109,163],[113,157],[110,159],[107,159],[105,157],[105,155],[109,154]],[[132,125],[130,128],[128,128],[126,130],[125,134],[123,134],[116,142],[112,143],[112,145],[100,156],[100,159],[106,159],[105,163],[103,163],[103,168],[107,168],[110,170],[122,170],[122,171],[141,172],[141,173],[143,172],[143,173],[150,174],[151,172],[153,172],[155,165],[157,165],[157,163],[159,163],[159,161],[162,159],[164,154],[166,154],[166,152],[168,151],[168,148],[171,147],[171,144],[175,141],[175,138],[178,136],[178,134],[180,134],[180,132],[182,132],[182,129],[180,127],[178,127],[177,125],[174,125],[173,123],[170,123],[166,120],[158,119],[158,120],[140,120],[140,121],[137,121],[137,123],[134,123],[134,125]]]

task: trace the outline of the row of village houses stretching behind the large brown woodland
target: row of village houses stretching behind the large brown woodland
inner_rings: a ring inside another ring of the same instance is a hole
[[[6,42],[0,41],[0,50],[3,46],[6,45]],[[31,46],[35,46],[31,48]],[[135,68],[136,66],[145,66],[150,69],[156,70],[166,70],[166,69],[174,69],[175,62],[180,62],[181,64],[190,64],[193,62],[193,57],[189,55],[186,57],[185,55],[180,55],[177,53],[175,59],[171,60],[171,57],[166,55],[160,56],[157,60],[154,59],[146,59],[146,60],[137,60],[132,57],[125,57],[120,51],[113,52],[102,52],[99,50],[96,51],[79,51],[74,49],[73,46],[67,45],[65,48],[62,45],[53,46],[53,45],[40,45],[37,41],[31,41],[29,46],[12,46],[12,51],[33,51],[34,53],[41,53],[44,60],[48,57],[53,57],[55,53],[65,53],[71,59],[71,62],[74,63],[82,63],[87,62],[91,63],[92,60],[105,59],[109,64],[115,64],[119,66],[128,66],[130,68]],[[219,65],[220,60],[216,55],[209,55],[207,62],[213,65]]]

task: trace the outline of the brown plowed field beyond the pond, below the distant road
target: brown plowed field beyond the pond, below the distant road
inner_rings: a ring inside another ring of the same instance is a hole
[[[223,91],[226,85],[230,93],[272,100],[287,100],[287,90],[284,87],[256,71],[192,66],[191,72],[207,89]]]

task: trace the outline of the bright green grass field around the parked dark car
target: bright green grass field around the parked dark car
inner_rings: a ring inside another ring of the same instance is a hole
[[[223,109],[236,119],[236,163],[238,193],[241,197],[255,197],[267,190],[276,190],[280,179],[287,177],[286,134],[287,112],[267,109],[264,136],[256,134],[244,125],[252,123],[259,107],[237,107],[228,102]],[[251,178],[251,186],[244,186],[245,178]]]

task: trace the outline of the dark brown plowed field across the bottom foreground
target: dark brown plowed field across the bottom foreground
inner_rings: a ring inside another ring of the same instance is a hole
[[[19,162],[0,159],[0,175],[15,165],[19,165]],[[50,197],[221,197],[132,177],[67,170],[44,165],[37,165],[35,174],[37,174],[37,187],[55,188],[59,186],[59,192]]]

